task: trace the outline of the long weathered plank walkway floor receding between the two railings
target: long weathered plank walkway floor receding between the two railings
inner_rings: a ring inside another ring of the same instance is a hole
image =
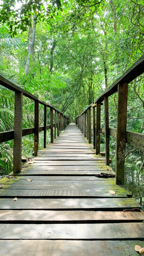
[[[137,255],[144,214],[123,210],[140,205],[115,179],[95,177],[114,172],[77,126],[38,153],[1,180],[0,255]]]

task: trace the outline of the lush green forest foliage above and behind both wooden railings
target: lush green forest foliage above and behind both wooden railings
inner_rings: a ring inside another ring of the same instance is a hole
[[[72,120],[144,53],[143,17],[143,0],[4,1],[0,7],[0,74]],[[127,130],[142,133],[143,85],[142,75],[129,84],[127,119]],[[116,128],[116,102],[117,94],[109,100],[111,128]],[[3,86],[0,109],[0,131],[13,129],[14,93]],[[40,125],[43,116],[41,106]],[[49,113],[47,119],[49,124]],[[33,123],[34,102],[24,97],[22,126],[33,127]],[[48,143],[49,134],[47,138]],[[115,146],[111,138],[113,163]],[[43,147],[43,133],[39,147]],[[22,155],[28,157],[32,151],[33,136],[23,137]],[[1,143],[1,173],[12,170],[12,154],[13,141]],[[139,150],[126,160],[135,184],[142,161]],[[142,173],[140,181],[142,188]]]

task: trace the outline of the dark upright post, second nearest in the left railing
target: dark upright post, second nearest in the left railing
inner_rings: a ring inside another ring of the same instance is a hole
[[[34,156],[38,155],[38,143],[39,143],[39,101],[35,100]]]

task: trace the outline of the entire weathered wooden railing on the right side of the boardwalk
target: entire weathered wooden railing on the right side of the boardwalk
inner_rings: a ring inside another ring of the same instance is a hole
[[[126,143],[144,151],[144,134],[127,131],[127,101],[128,83],[136,79],[144,72],[144,54],[103,94],[91,103],[75,119],[76,125],[80,128],[88,143],[91,143],[91,108],[92,108],[92,129],[93,146],[96,154],[100,153],[100,134],[105,134],[106,164],[110,164],[110,135],[116,138],[116,184],[124,184],[124,164]],[[109,106],[108,97],[118,92],[117,104],[117,128],[109,128]],[[104,101],[104,123],[105,128],[101,128],[101,105]],[[95,118],[96,107],[96,118]],[[87,131],[87,134],[86,134]]]

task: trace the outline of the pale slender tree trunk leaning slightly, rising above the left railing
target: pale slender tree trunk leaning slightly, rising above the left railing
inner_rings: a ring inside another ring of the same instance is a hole
[[[33,18],[32,38],[31,38],[31,42],[29,44],[28,57],[27,57],[27,62],[26,62],[26,67],[25,67],[25,74],[26,75],[29,72],[29,61],[30,61],[31,54],[32,55],[34,54],[35,29],[36,29],[35,20],[34,19],[35,19],[35,15],[34,15],[34,18]],[[30,35],[28,34],[28,36],[30,36]]]

